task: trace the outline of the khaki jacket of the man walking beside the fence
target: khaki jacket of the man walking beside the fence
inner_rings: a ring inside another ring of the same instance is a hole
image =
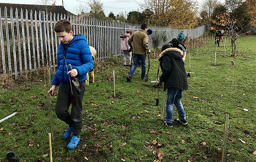
[[[128,39],[128,44],[132,47],[133,54],[146,54],[148,50],[148,36],[147,32],[139,29],[134,32]]]

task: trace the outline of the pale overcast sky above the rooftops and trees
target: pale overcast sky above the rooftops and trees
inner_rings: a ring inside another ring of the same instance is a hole
[[[42,0],[0,0],[0,3],[18,3],[18,4],[40,4],[38,1]],[[64,8],[69,12],[76,14],[76,8],[80,4],[87,5],[87,0],[63,0]],[[141,12],[140,7],[137,2],[144,2],[144,0],[101,0],[104,5],[104,13],[108,16],[109,12],[113,12],[114,15],[120,14],[123,12],[125,15],[130,11],[138,11]],[[197,0],[200,4],[203,0]],[[224,2],[224,0],[220,0]],[[56,0],[56,5],[62,5],[62,0]],[[199,5],[200,6],[200,5]],[[88,11],[89,12],[89,11]]]

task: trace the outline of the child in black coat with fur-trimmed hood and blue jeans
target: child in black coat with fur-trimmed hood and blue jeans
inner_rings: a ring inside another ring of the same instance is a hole
[[[158,82],[164,82],[163,90],[167,90],[166,121],[162,123],[168,127],[172,127],[173,121],[187,125],[188,122],[181,103],[182,93],[188,89],[188,80],[184,61],[182,60],[182,51],[165,44],[159,56],[162,75],[158,78]],[[173,119],[173,104],[175,104],[178,110],[178,119]]]

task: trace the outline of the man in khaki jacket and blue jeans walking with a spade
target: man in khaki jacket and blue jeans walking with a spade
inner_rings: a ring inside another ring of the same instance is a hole
[[[140,29],[132,34],[128,39],[128,44],[132,48],[132,60],[133,65],[130,69],[129,75],[126,77],[127,82],[132,81],[132,75],[134,74],[139,60],[141,60],[141,79],[145,79],[146,73],[146,53],[148,50],[148,35],[147,35],[147,24],[142,24]]]

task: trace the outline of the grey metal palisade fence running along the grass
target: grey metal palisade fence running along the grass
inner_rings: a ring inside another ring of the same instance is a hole
[[[22,75],[22,72],[33,71],[36,68],[56,69],[56,52],[60,41],[53,32],[53,26],[61,19],[70,21],[74,34],[82,33],[86,36],[88,44],[97,51],[97,61],[123,55],[119,36],[126,30],[135,32],[140,28],[140,24],[56,15],[44,11],[15,9],[13,15],[12,10],[0,8],[0,68],[3,68],[1,74],[14,74],[15,79],[18,79],[18,74]],[[8,12],[10,16],[7,16]],[[168,43],[173,37],[177,37],[181,30],[184,31],[184,36],[196,38],[207,32],[209,26],[193,29],[148,26],[148,29],[153,30],[148,42],[152,49]]]

